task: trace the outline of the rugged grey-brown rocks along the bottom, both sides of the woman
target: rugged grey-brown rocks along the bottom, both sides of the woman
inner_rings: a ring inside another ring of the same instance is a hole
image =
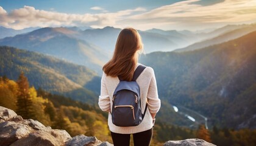
[[[0,106],[0,145],[1,146],[113,146],[101,142],[96,137],[78,135],[71,137],[65,130],[45,127],[37,120],[23,119],[12,109]],[[168,141],[164,146],[209,145],[201,139]]]

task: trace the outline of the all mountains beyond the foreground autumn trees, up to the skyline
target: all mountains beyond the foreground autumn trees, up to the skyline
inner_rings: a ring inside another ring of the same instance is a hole
[[[95,104],[102,64],[111,57],[120,31],[47,27],[3,38],[0,75],[16,80],[23,71],[35,88]],[[164,102],[159,119],[182,123],[172,104],[203,114],[213,125],[255,128],[254,31],[255,24],[201,33],[139,31],[146,53],[150,52],[141,55],[140,62],[155,69]]]

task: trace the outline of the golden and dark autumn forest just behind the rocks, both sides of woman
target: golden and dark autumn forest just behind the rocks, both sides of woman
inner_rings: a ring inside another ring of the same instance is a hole
[[[0,106],[13,109],[24,119],[38,120],[46,126],[64,129],[71,136],[85,134],[112,142],[107,127],[107,113],[98,106],[50,94],[41,88],[35,90],[24,74],[20,74],[16,82],[5,76],[0,77],[0,99]],[[190,130],[157,120],[151,144],[163,145],[169,140],[200,138],[217,145],[252,145],[255,134],[255,130],[232,131],[217,127],[206,130],[204,126]]]

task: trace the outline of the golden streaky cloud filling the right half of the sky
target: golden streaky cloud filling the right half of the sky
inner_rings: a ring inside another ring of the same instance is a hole
[[[199,0],[176,2],[146,13],[129,16],[118,24],[133,24],[138,29],[202,29],[223,24],[256,22],[255,0],[226,0],[213,5],[195,4]],[[152,26],[152,24],[154,24]]]

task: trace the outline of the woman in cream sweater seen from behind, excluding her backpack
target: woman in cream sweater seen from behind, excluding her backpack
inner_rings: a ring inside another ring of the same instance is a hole
[[[115,146],[129,146],[130,134],[133,134],[135,146],[150,145],[155,114],[160,109],[154,70],[146,67],[136,80],[140,86],[141,110],[145,109],[148,102],[148,109],[146,109],[143,121],[136,127],[118,127],[112,123],[112,99],[113,92],[119,83],[118,77],[126,81],[132,80],[133,72],[140,64],[138,63],[138,53],[140,52],[143,52],[140,34],[132,28],[123,29],[116,41],[112,59],[103,67],[99,107],[102,111],[108,112],[108,127]]]

